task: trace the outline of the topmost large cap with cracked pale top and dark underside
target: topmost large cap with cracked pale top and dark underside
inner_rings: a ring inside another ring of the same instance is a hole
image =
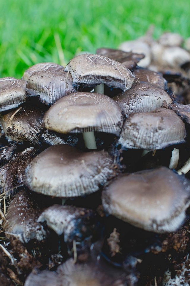
[[[80,85],[94,87],[105,83],[108,87],[126,91],[134,82],[134,75],[124,65],[95,54],[82,54],[73,58],[64,70],[69,70],[72,84],[77,89]]]

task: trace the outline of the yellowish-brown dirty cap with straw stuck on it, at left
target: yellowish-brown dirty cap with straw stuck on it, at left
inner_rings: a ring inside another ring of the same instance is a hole
[[[0,114],[0,123],[7,140],[37,143],[42,131],[41,120],[45,111],[43,107],[30,105]]]

